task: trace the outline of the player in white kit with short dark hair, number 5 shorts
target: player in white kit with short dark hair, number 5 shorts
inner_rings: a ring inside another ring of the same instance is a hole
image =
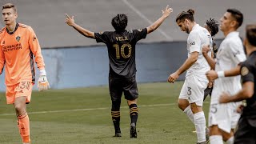
[[[233,95],[242,88],[240,76],[224,78],[223,72],[224,70],[233,69],[240,62],[246,60],[242,40],[237,32],[238,27],[242,25],[242,21],[243,16],[239,10],[226,10],[226,13],[220,19],[220,30],[225,35],[225,39],[218,49],[217,61],[215,62],[207,54],[203,53],[213,69],[206,73],[207,77],[209,80],[214,79],[211,75],[218,77],[214,81],[214,90],[210,100],[209,126],[211,144],[222,144],[223,140],[227,144],[234,143],[234,132],[232,129],[235,128],[240,118],[240,114],[236,113],[236,108],[241,102],[220,104],[218,99],[224,91]]]

